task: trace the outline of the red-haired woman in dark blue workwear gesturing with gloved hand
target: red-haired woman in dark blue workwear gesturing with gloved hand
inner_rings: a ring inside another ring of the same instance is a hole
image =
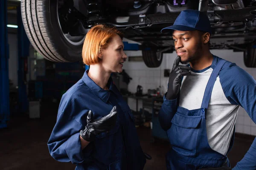
[[[116,28],[96,25],[87,33],[82,59],[90,69],[62,96],[47,143],[55,160],[76,170],[143,170],[134,117],[111,79],[122,72],[123,48]]]

